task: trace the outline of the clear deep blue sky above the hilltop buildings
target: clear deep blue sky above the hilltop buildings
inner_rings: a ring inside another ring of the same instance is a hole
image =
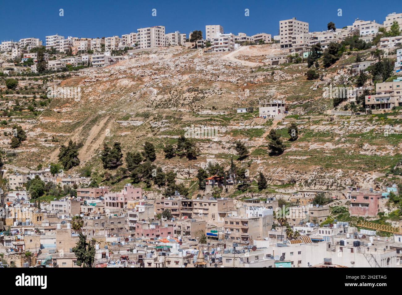
[[[64,16],[59,16],[59,9]],[[156,16],[152,16],[152,9]],[[248,8],[250,16],[244,16]],[[342,16],[337,16],[338,8]],[[326,29],[328,22],[341,28],[355,18],[383,22],[390,12],[402,12],[401,0],[0,0],[0,41],[46,35],[110,37],[162,25],[166,33],[201,30],[220,24],[225,33],[278,34],[279,20],[296,17],[309,22],[310,31]]]

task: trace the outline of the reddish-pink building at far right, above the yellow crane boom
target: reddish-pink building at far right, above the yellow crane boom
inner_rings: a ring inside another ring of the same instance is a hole
[[[351,193],[351,216],[377,216],[383,206],[380,192],[354,191]]]

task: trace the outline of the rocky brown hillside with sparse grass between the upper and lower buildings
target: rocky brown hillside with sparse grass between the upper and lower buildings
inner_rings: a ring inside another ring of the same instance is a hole
[[[353,85],[350,68],[356,53],[344,54],[328,69],[321,66],[317,70],[321,78],[309,81],[306,63],[265,65],[267,55],[281,52],[275,46],[244,47],[229,55],[170,47],[138,53],[109,67],[71,72],[67,79],[53,75],[46,81],[20,81],[22,89],[24,84],[38,90],[53,83],[79,86],[81,96],[47,100],[6,95],[3,90],[1,120],[8,124],[0,126],[0,144],[8,164],[35,169],[41,163],[56,162],[59,146],[72,139],[80,144],[81,163],[68,173],[80,173],[86,167],[102,181],[103,142],[121,142],[126,154],[142,151],[149,141],[156,147],[154,163],[164,171],[174,170],[193,193],[198,193],[198,167],[209,161],[228,167],[231,156],[237,159],[234,143],[238,140],[248,146],[250,156],[236,165],[247,167],[251,179],[262,172],[270,184],[266,194],[400,183],[400,177],[388,172],[402,159],[401,110],[333,116],[332,99],[322,96],[322,88],[330,83]],[[359,54],[373,58],[369,51]],[[258,100],[269,98],[286,99],[287,117],[277,121],[258,118]],[[18,110],[16,104],[35,104],[35,109]],[[236,108],[250,106],[254,112],[236,114]],[[12,131],[12,122],[27,132],[27,140],[16,149],[10,148],[11,137],[4,136],[4,131]],[[299,138],[293,142],[287,133],[292,122],[299,128]],[[164,145],[191,126],[216,127],[217,137],[194,139],[201,151],[197,159],[165,159]],[[282,155],[269,155],[271,128],[282,135],[286,145]],[[128,181],[122,179],[113,186]]]

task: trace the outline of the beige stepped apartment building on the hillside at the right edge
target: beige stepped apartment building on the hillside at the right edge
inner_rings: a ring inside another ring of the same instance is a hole
[[[375,95],[365,96],[366,110],[391,110],[402,106],[402,81],[375,84]]]

